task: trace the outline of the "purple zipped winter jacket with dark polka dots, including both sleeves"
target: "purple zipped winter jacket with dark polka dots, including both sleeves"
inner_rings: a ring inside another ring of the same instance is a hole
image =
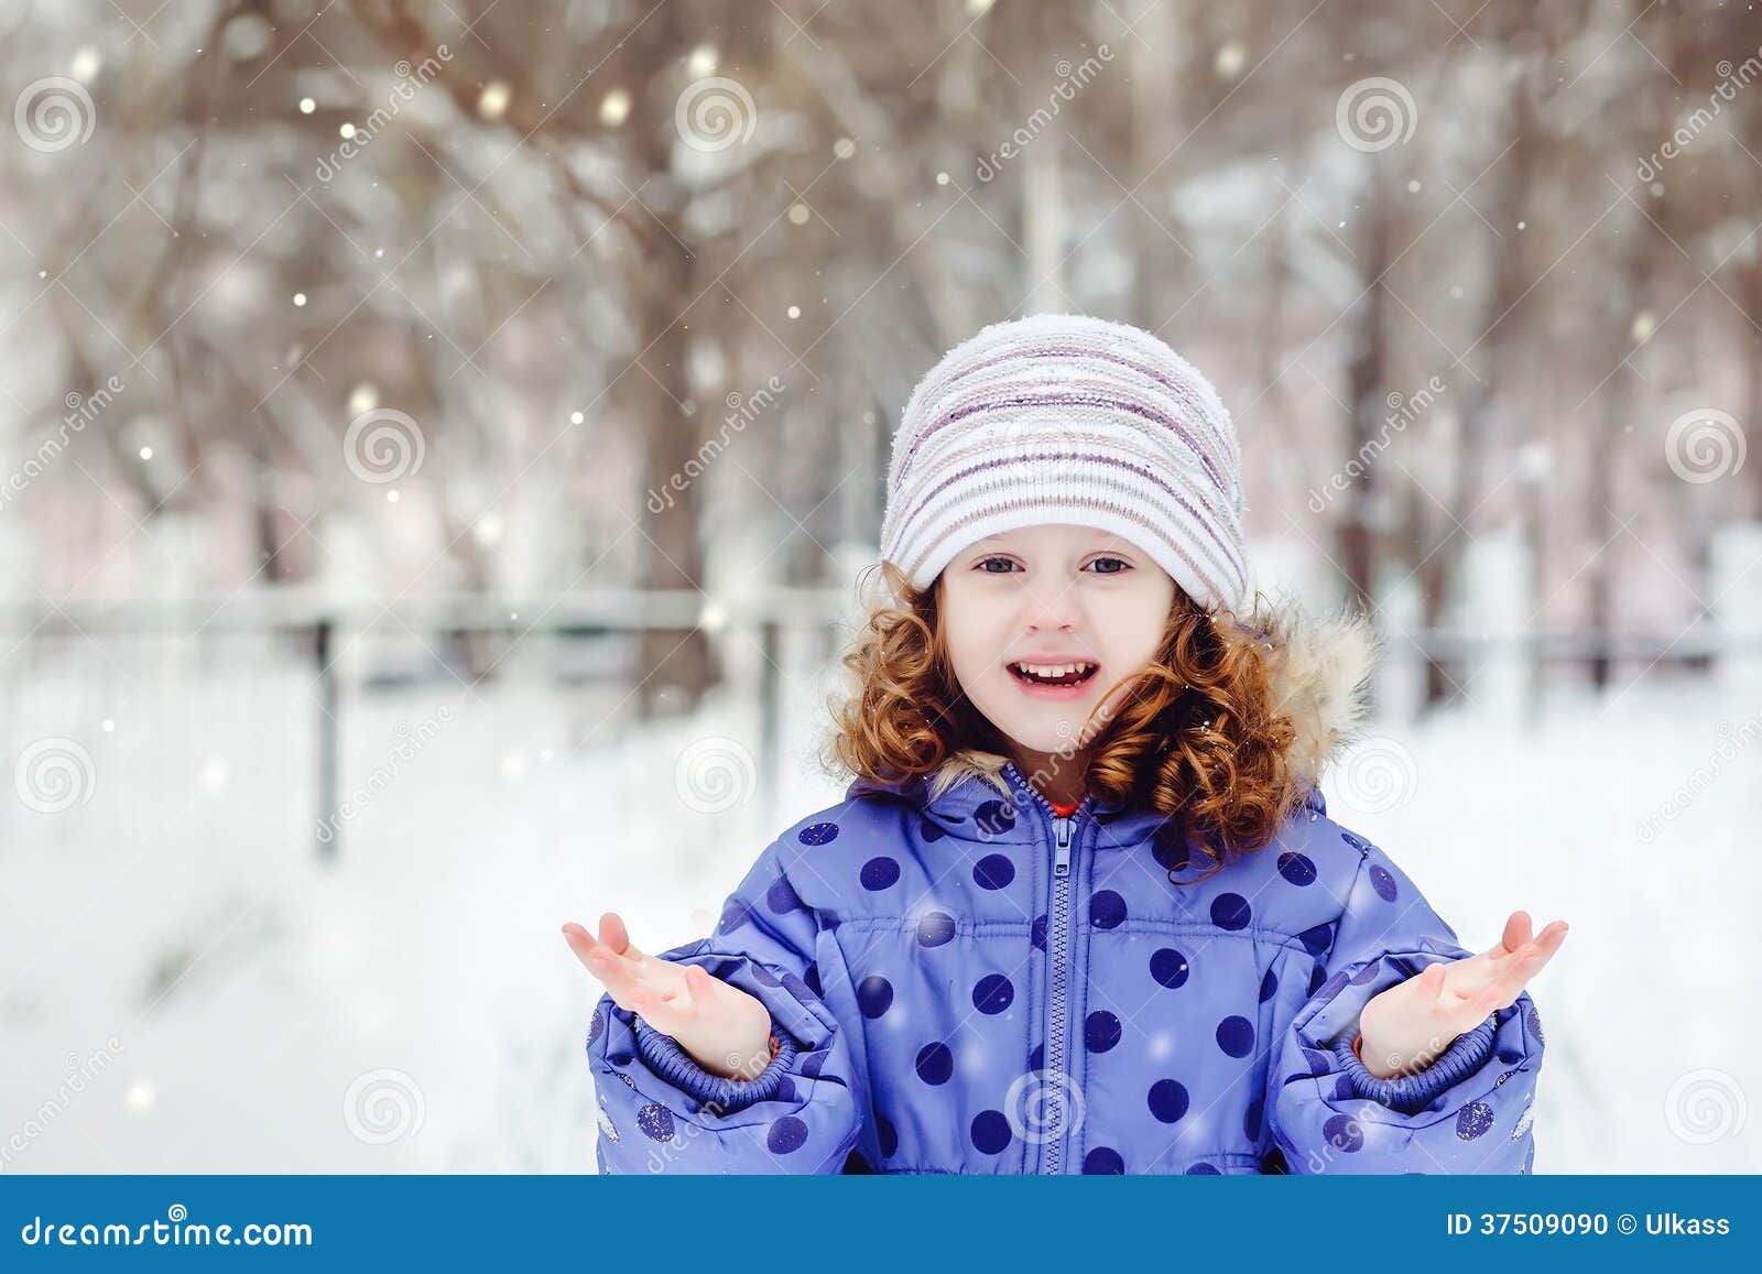
[[[856,781],[788,828],[710,937],[663,953],[770,1008],[751,1080],[604,996],[587,1036],[603,1172],[1528,1172],[1529,994],[1378,1080],[1359,1011],[1470,955],[1327,818],[1209,862],[1168,821],[1070,818],[1008,765],[927,798]]]

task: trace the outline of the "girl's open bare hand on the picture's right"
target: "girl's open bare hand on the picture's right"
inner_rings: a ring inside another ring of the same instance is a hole
[[[1359,1013],[1366,1070],[1376,1078],[1424,1070],[1459,1034],[1515,1003],[1563,941],[1565,920],[1556,920],[1531,939],[1529,913],[1514,911],[1505,922],[1505,936],[1491,950],[1427,964],[1418,976],[1380,992]]]

